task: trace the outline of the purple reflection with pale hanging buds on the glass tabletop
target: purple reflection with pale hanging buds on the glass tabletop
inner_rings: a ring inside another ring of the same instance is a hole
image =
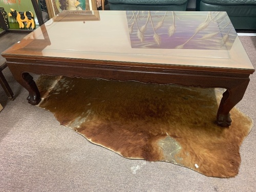
[[[132,48],[230,50],[237,33],[226,12],[126,11]]]

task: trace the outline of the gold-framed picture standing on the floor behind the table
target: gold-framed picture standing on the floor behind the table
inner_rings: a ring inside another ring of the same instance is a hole
[[[97,10],[96,0],[46,0],[49,18],[63,10],[82,11]]]

